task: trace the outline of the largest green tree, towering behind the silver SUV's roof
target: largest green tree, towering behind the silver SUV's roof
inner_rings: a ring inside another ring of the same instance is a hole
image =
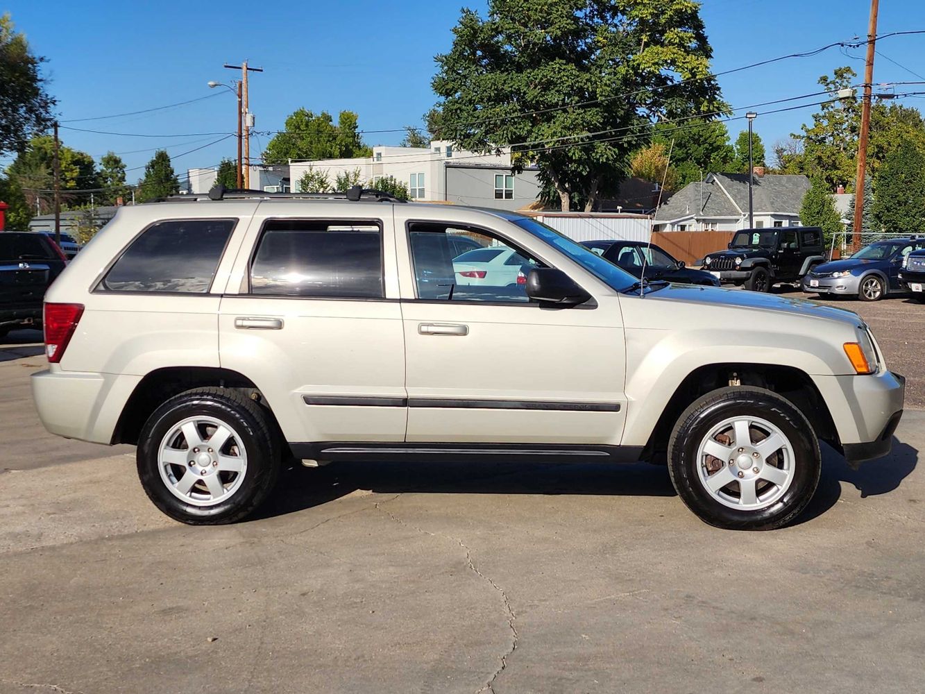
[[[464,9],[453,33],[432,83],[440,137],[511,145],[515,172],[536,162],[563,210],[619,191],[651,118],[722,106],[691,0],[488,0],[485,19]]]

